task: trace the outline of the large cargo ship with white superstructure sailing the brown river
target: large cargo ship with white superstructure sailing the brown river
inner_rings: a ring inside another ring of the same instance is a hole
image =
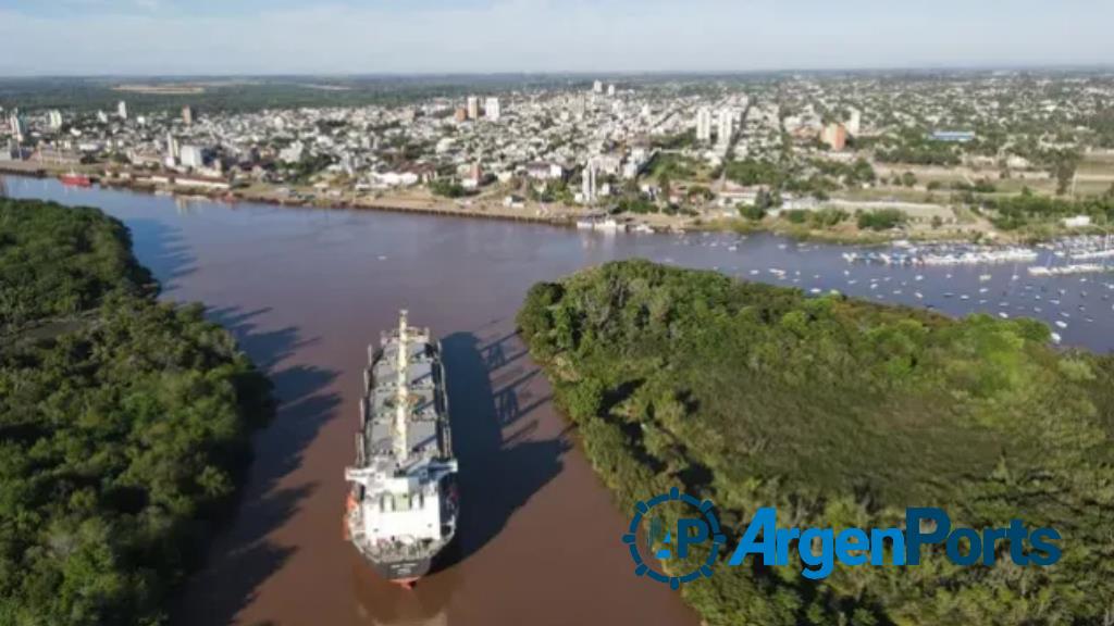
[[[344,471],[351,489],[348,539],[388,580],[405,587],[428,574],[452,541],[459,510],[457,459],[440,342],[411,327],[368,346],[355,463]]]

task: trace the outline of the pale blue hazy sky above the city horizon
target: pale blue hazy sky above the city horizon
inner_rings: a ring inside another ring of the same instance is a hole
[[[1111,0],[0,0],[0,75],[1114,65]]]

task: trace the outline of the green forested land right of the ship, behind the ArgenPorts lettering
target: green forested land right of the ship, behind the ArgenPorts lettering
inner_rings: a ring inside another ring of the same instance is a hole
[[[1029,320],[930,312],[643,261],[531,288],[518,315],[619,505],[712,499],[729,550],[779,525],[1051,526],[1063,559],[959,567],[727,567],[682,587],[710,626],[1108,625],[1114,620],[1114,359],[1049,346]],[[936,550],[936,548],[940,548]],[[681,571],[682,568],[676,569]]]

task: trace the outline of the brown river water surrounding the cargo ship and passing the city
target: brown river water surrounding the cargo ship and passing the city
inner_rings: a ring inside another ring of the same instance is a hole
[[[275,382],[280,411],[255,437],[240,511],[187,583],[175,624],[697,624],[675,594],[634,576],[619,540],[628,515],[514,334],[531,284],[587,265],[638,256],[954,315],[1033,316],[1067,324],[1056,329],[1065,345],[1114,348],[1110,274],[852,266],[846,248],[771,235],[602,235],[4,183],[12,197],[124,221],[164,297],[205,302]],[[412,591],[380,580],[341,537],[367,344],[403,307],[443,342],[463,507],[455,563]]]

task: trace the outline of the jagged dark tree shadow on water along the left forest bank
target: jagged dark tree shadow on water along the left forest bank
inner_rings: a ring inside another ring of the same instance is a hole
[[[299,346],[312,343],[299,330],[263,331],[255,320],[267,310],[219,309],[209,319],[227,327],[274,383],[274,420],[253,438],[254,459],[235,518],[214,539],[202,570],[184,585],[173,604],[172,624],[226,625],[250,605],[256,589],[293,555],[267,537],[300,508],[314,483],[278,488],[302,462],[320,429],[335,415],[340,398],[326,389],[334,371],[306,365],[280,368]]]

